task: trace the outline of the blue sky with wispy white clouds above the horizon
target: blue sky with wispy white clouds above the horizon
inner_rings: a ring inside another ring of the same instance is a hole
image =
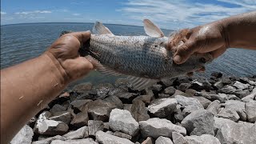
[[[149,18],[171,30],[256,10],[256,0],[1,0],[1,25],[95,22],[142,26]]]

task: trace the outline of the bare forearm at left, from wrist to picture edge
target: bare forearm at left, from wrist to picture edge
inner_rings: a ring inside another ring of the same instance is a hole
[[[1,70],[1,143],[10,142],[65,87],[65,71],[51,55]]]

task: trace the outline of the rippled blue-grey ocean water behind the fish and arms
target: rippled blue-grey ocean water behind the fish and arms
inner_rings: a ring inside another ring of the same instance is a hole
[[[30,58],[42,54],[54,42],[62,30],[82,31],[91,30],[92,23],[31,23],[1,26],[1,69],[14,66]],[[145,35],[141,26],[106,26],[116,35]],[[169,35],[172,30],[162,30]],[[206,66],[206,72],[196,74],[202,78],[209,78],[214,71],[226,76],[251,76],[256,74],[256,50],[229,49],[221,57]],[[92,71],[86,78],[74,82],[114,83],[115,77]]]

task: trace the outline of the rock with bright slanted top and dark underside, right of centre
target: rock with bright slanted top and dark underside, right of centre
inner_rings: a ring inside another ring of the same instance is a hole
[[[178,102],[175,98],[160,98],[152,102],[148,106],[148,110],[158,118],[165,118],[174,112],[177,104]]]

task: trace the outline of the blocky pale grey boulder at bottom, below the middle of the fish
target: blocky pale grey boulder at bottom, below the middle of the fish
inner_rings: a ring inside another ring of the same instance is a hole
[[[114,109],[110,113],[110,128],[134,136],[138,133],[139,126],[130,111]]]

